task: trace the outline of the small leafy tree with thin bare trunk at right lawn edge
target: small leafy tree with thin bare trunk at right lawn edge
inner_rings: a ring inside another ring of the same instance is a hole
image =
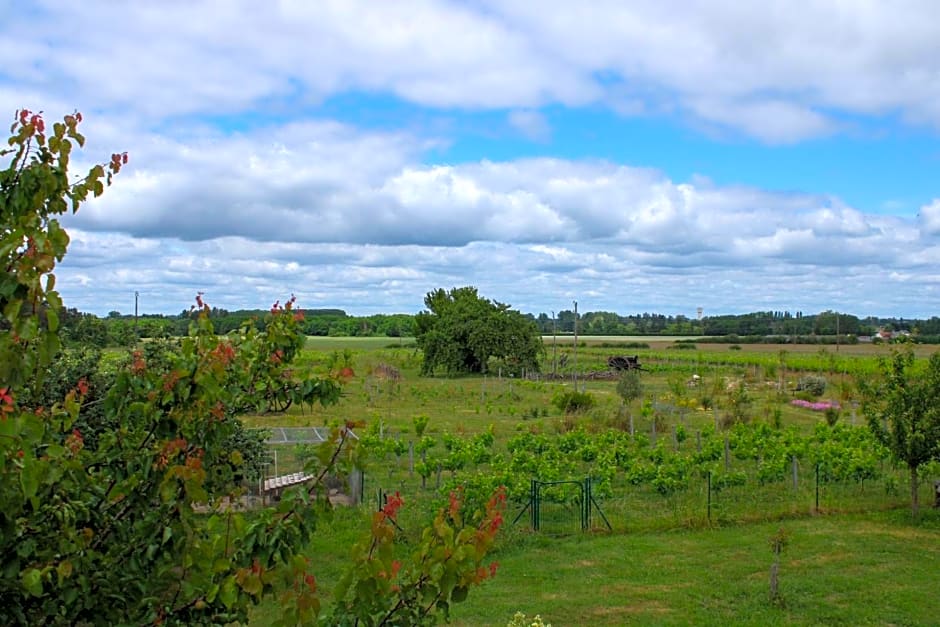
[[[866,386],[865,411],[875,436],[911,474],[911,512],[917,515],[920,467],[940,459],[940,353],[918,368],[910,348],[881,364],[883,381]]]

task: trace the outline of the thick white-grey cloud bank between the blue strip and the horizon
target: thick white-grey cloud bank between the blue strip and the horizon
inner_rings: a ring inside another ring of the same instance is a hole
[[[127,310],[137,290],[179,311],[202,290],[226,307],[294,292],[308,307],[416,311],[464,284],[532,311],[580,298],[623,313],[911,316],[940,302],[940,201],[907,220],[603,161],[422,165],[421,140],[335,123],[137,143],[143,163],[66,220],[73,306]]]

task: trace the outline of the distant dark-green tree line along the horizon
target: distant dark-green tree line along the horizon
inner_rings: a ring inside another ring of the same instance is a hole
[[[210,318],[219,333],[237,330],[246,320],[263,328],[262,309],[229,311],[212,308]],[[179,337],[186,335],[192,313],[176,315],[133,315],[110,312],[101,318],[77,309],[63,309],[60,314],[62,335],[72,345],[126,346],[135,338]],[[542,335],[574,333],[575,314],[557,312],[554,321],[547,313],[522,314],[533,321]],[[301,328],[307,335],[332,337],[413,337],[415,316],[411,314],[375,314],[353,316],[342,309],[308,309]],[[620,315],[611,311],[578,314],[579,335],[687,335],[714,336],[734,342],[853,342],[858,337],[875,336],[880,331],[910,333],[911,339],[926,344],[940,343],[940,317],[879,318],[834,311],[803,314],[800,311],[757,311],[737,315],[705,316],[701,320],[679,315],[642,313]]]

